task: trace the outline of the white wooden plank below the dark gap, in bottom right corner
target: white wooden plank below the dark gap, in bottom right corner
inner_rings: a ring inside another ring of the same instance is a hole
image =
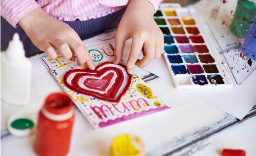
[[[256,115],[236,122],[219,133],[199,140],[173,155],[220,155],[226,149],[244,149],[246,155],[255,155]]]

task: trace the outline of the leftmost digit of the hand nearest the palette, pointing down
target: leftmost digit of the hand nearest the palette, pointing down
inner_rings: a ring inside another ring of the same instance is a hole
[[[116,42],[115,42],[114,64],[118,64],[119,62],[121,62],[122,57],[123,57],[124,45],[125,45],[126,38],[121,33],[117,33],[115,40],[116,40]]]

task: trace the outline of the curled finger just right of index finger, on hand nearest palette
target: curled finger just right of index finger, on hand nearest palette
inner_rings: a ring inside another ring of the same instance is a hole
[[[146,67],[150,62],[152,62],[152,60],[155,59],[156,53],[155,44],[152,40],[145,42],[143,47],[146,55],[141,60],[136,62],[136,65],[141,68]]]

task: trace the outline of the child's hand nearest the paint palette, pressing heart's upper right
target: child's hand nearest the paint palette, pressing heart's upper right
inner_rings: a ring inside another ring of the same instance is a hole
[[[121,19],[115,44],[115,64],[123,56],[126,39],[132,38],[132,46],[127,60],[127,72],[133,74],[134,65],[147,66],[155,58],[161,57],[164,48],[162,31],[154,21],[154,7],[148,0],[131,0]],[[140,51],[145,54],[139,60]]]

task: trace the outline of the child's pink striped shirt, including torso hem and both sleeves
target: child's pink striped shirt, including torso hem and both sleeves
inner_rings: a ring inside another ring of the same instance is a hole
[[[138,0],[139,1],[139,0]],[[162,0],[148,0],[157,10]],[[121,10],[129,0],[1,0],[1,16],[13,27],[36,7],[63,21],[100,18]]]

